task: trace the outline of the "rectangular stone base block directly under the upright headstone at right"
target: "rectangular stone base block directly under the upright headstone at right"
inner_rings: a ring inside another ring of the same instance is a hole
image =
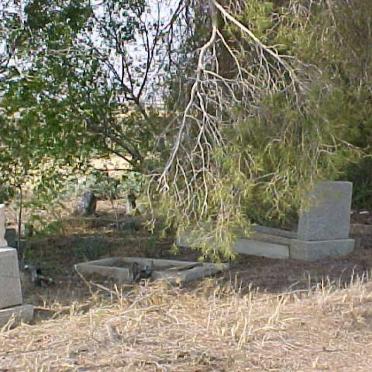
[[[326,257],[346,256],[354,249],[354,239],[305,241],[293,239],[290,258],[304,261],[317,261]]]

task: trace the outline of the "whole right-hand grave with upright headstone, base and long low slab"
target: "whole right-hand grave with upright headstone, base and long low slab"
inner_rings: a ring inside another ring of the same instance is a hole
[[[305,199],[297,231],[255,226],[251,237],[237,239],[237,253],[315,261],[344,256],[354,249],[349,238],[352,183],[326,181],[315,185]],[[179,246],[188,246],[180,239]]]

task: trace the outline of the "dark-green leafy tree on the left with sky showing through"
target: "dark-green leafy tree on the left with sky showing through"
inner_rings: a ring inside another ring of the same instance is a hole
[[[1,6],[2,184],[39,179],[47,190],[63,183],[65,166],[84,171],[92,154],[143,168],[159,125],[149,77],[173,34],[172,14],[164,23],[148,10],[114,0]]]

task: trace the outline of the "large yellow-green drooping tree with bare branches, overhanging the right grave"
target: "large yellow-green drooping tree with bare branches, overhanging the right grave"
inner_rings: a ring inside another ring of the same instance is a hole
[[[198,58],[185,51],[177,75],[190,83],[176,94],[188,99],[176,101],[174,145],[155,177],[164,213],[193,226],[204,252],[230,255],[249,222],[290,225],[314,180],[340,177],[360,156],[355,127],[332,117],[340,85],[328,66],[329,43],[340,37],[332,17],[356,6],[354,16],[368,22],[366,4],[210,1],[204,8],[209,36],[199,39]],[[318,63],[312,51],[326,60]]]

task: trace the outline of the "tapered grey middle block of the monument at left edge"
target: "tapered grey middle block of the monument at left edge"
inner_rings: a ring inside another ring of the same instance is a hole
[[[22,304],[17,251],[0,248],[0,309]]]

